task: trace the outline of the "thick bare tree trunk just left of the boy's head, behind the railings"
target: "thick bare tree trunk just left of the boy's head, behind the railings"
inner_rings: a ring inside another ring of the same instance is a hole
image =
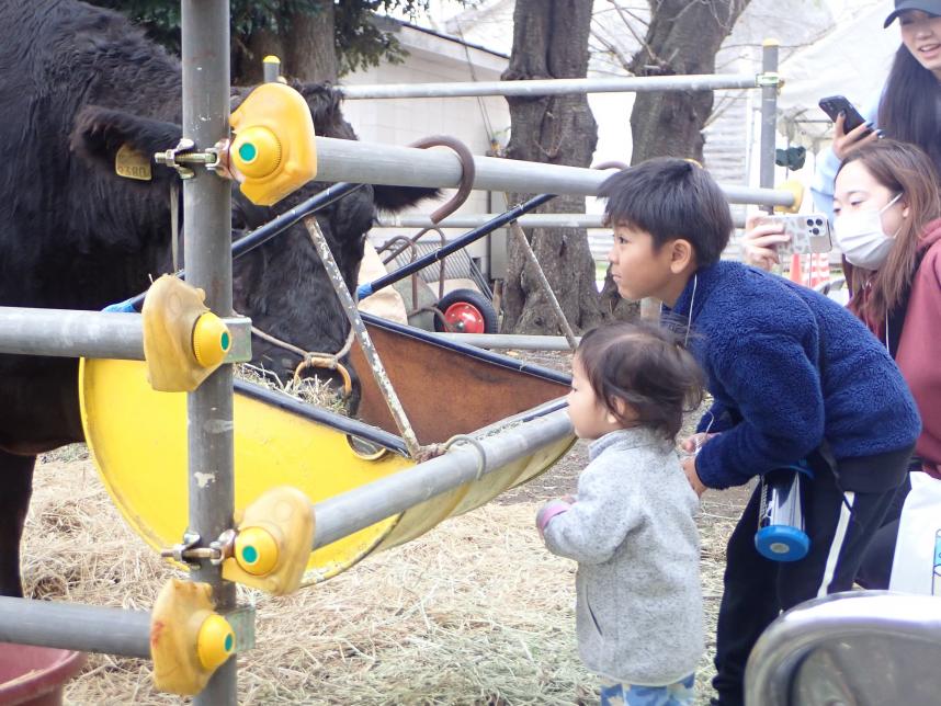
[[[591,0],[517,0],[513,50],[504,80],[583,78],[588,69]],[[507,153],[552,164],[588,167],[598,127],[583,94],[508,98],[511,137]],[[509,194],[511,203],[532,194]],[[585,198],[559,196],[543,213],[581,213]],[[535,228],[529,234],[546,278],[569,323],[588,329],[601,320],[594,262],[585,229]],[[503,299],[503,331],[559,332],[537,278],[511,239]]]

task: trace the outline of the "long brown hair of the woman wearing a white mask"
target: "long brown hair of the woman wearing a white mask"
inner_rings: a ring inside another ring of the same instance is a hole
[[[866,281],[872,281],[864,304],[853,308],[868,321],[882,326],[908,295],[921,235],[930,221],[941,218],[941,190],[932,160],[908,143],[883,139],[854,149],[847,155],[840,170],[850,162],[862,162],[880,184],[893,194],[902,194],[899,201],[908,208],[908,217],[903,220],[895,244],[878,272],[873,275],[853,267],[848,277],[853,295],[860,293]]]

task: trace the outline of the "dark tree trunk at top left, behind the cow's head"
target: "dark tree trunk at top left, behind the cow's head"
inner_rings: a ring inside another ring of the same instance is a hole
[[[252,86],[262,80],[262,59],[273,54],[281,59],[282,72],[302,81],[337,81],[339,61],[335,39],[333,3],[324,0],[316,14],[285,18],[287,30],[275,34],[262,30],[247,45],[235,49],[235,83]]]

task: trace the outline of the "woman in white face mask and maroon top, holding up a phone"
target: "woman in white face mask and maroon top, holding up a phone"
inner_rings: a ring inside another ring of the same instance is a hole
[[[914,470],[941,481],[941,191],[918,147],[880,140],[849,152],[837,173],[834,232],[843,251],[849,308],[887,348],[911,389],[922,431]],[[749,259],[749,258],[747,258]],[[752,264],[770,269],[766,258]],[[888,588],[899,489],[857,577]]]

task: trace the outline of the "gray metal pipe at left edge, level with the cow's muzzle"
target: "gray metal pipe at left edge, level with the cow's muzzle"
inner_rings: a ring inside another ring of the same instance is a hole
[[[0,307],[0,353],[144,360],[138,314]]]

